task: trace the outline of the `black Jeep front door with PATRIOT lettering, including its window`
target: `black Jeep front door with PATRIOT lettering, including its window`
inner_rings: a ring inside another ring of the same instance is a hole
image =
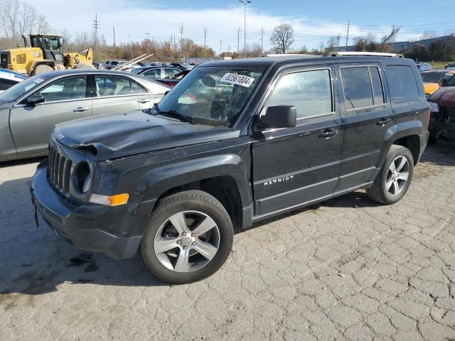
[[[299,207],[333,195],[338,183],[343,130],[331,67],[284,72],[262,108],[294,105],[293,128],[252,134],[255,215]]]

